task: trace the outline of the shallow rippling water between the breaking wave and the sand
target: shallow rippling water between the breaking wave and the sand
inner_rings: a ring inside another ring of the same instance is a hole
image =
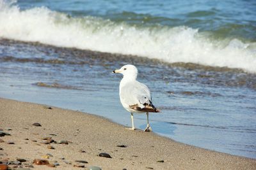
[[[0,96],[86,111],[131,125],[119,101],[122,76],[135,64],[161,113],[154,132],[189,145],[256,158],[256,75],[239,69],[168,64],[136,56],[0,41]],[[144,129],[146,115],[134,115]]]

